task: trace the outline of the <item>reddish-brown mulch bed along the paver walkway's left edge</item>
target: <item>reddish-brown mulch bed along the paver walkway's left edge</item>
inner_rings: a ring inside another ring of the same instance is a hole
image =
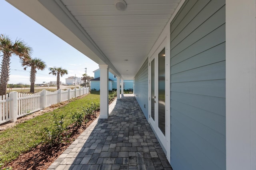
[[[100,111],[96,112],[96,117],[100,115]],[[64,152],[69,145],[88,127],[96,117],[91,117],[92,119],[87,123],[83,123],[81,127],[68,127],[68,131],[65,134],[70,134],[70,138],[66,138],[63,142],[57,146],[49,146],[40,144],[37,147],[29,150],[26,153],[20,154],[16,160],[10,162],[6,167],[12,167],[14,170],[46,170],[59,156]]]

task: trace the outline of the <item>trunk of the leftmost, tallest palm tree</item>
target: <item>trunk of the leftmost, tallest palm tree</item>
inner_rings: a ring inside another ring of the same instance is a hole
[[[0,96],[6,95],[7,84],[9,81],[10,56],[8,54],[4,53],[1,65]]]

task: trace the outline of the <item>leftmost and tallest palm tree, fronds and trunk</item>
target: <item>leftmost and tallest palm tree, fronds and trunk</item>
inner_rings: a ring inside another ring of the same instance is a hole
[[[24,41],[16,39],[13,42],[7,35],[0,34],[0,52],[3,53],[0,78],[0,96],[6,94],[10,74],[10,57],[17,55],[21,60],[30,60],[32,48]]]

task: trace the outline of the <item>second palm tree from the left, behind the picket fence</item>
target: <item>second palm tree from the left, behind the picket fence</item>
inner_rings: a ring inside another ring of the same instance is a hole
[[[31,67],[30,70],[30,93],[34,93],[34,88],[35,88],[35,81],[36,81],[36,69],[38,70],[44,70],[46,67],[46,64],[44,61],[38,58],[34,58],[28,61],[21,61],[22,66],[24,67],[24,70],[26,68]]]

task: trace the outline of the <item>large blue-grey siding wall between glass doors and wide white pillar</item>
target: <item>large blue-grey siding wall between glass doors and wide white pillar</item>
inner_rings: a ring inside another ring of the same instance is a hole
[[[187,0],[170,31],[172,168],[225,170],[225,0]]]

